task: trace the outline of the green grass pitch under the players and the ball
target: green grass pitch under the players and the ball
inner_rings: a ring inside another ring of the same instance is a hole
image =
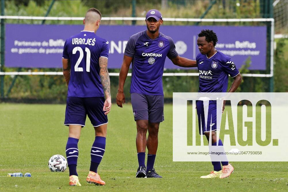
[[[138,162],[132,107],[125,104],[121,109],[114,104],[108,117],[106,151],[98,168],[106,185],[86,183],[94,141],[87,118],[78,144],[82,187],[70,187],[68,168],[58,173],[47,166],[52,155],[66,156],[65,105],[0,104],[0,191],[288,191],[287,162],[232,162],[235,171],[229,178],[209,180],[200,176],[213,169],[211,162],[173,162],[172,104],[166,104],[164,110],[155,162],[164,178],[135,178]],[[13,172],[30,172],[32,177],[6,176]]]

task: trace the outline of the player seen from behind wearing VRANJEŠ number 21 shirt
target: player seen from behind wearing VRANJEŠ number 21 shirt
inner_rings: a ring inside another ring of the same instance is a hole
[[[85,126],[86,115],[95,130],[95,140],[90,153],[90,171],[86,181],[105,185],[97,173],[97,168],[105,152],[111,95],[107,70],[108,41],[95,34],[100,22],[101,13],[95,8],[89,9],[83,20],[84,30],[69,37],[63,49],[63,74],[68,85],[64,124],[69,126],[66,156],[71,186],[81,186],[76,166],[78,141],[81,129]]]

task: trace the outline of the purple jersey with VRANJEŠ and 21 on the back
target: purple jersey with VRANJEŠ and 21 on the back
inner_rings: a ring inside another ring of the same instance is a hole
[[[68,97],[104,97],[99,58],[108,58],[108,41],[93,31],[81,31],[64,44],[63,58],[71,63]]]

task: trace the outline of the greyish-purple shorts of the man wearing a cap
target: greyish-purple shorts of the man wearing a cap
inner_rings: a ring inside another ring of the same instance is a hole
[[[134,120],[148,120],[151,123],[164,121],[164,96],[131,93]]]

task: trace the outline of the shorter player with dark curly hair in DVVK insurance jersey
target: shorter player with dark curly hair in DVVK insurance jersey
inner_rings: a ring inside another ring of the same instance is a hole
[[[198,34],[197,45],[200,54],[197,55],[196,61],[199,70],[199,92],[227,92],[228,75],[234,79],[228,92],[235,92],[242,81],[242,76],[231,58],[215,49],[217,41],[217,35],[212,30],[202,30]],[[225,104],[226,101],[224,100],[222,113],[225,109]],[[206,109],[209,107],[207,119],[205,119],[204,106],[206,106]],[[216,101],[197,100],[196,109],[199,133],[201,135],[204,134],[209,141],[211,131],[212,146],[216,146],[216,131],[220,131],[220,125],[217,125],[216,122]],[[221,139],[218,140],[218,146],[221,151],[224,151]],[[234,170],[228,161],[221,161],[221,163],[220,161],[212,161],[212,164],[214,170],[208,175],[201,176],[201,178],[226,178]]]

